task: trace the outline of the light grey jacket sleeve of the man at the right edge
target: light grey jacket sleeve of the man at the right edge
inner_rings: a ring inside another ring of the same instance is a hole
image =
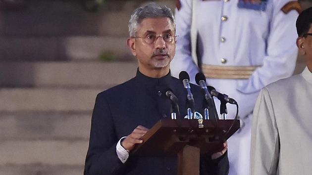
[[[267,88],[260,91],[253,118],[251,138],[251,175],[276,175],[279,136]]]

